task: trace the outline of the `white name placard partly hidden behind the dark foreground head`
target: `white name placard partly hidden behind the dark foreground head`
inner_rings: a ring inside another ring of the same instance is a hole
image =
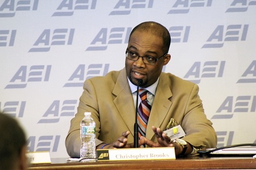
[[[27,159],[30,159],[31,164],[50,164],[51,158],[48,151],[28,152]]]

